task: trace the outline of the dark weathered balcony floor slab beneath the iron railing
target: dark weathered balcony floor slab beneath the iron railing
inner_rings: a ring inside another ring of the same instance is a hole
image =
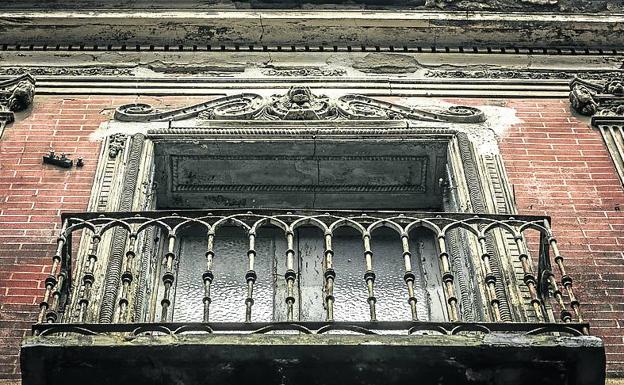
[[[604,383],[596,337],[52,335],[22,345],[24,385]]]

